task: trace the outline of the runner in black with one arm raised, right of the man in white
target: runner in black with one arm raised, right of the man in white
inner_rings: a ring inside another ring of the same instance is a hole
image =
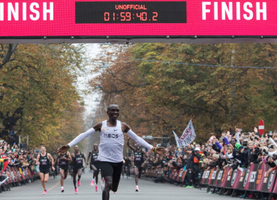
[[[136,182],[136,192],[139,192],[139,178],[141,176],[142,169],[145,165],[145,162],[149,159],[146,152],[144,150],[141,150],[140,145],[137,144],[136,148],[130,145],[130,137],[128,137],[127,146],[134,151],[134,168],[135,168],[135,182]],[[144,161],[144,156],[146,157]]]

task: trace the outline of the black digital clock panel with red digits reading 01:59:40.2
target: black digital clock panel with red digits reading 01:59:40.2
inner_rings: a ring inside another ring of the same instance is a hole
[[[186,23],[186,1],[77,1],[75,23]]]

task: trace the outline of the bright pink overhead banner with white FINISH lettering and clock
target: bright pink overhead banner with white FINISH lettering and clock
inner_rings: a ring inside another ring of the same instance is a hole
[[[277,0],[0,0],[23,36],[277,36]]]

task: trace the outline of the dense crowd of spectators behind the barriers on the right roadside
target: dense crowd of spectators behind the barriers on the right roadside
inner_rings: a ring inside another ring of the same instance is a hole
[[[164,177],[169,178],[174,169],[187,170],[183,187],[199,187],[205,170],[223,170],[230,166],[245,171],[251,163],[268,163],[270,171],[277,168],[277,131],[260,136],[258,129],[242,132],[222,132],[220,137],[211,134],[205,144],[192,143],[184,148],[171,145],[166,158],[148,151],[150,159],[146,167],[164,169]],[[251,194],[249,194],[251,197]]]

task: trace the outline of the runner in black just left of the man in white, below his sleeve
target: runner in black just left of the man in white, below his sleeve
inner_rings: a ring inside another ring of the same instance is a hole
[[[99,154],[98,145],[94,144],[93,150],[89,152],[89,156],[87,158],[87,165],[89,164],[90,157],[92,156],[91,163],[90,163],[90,168],[93,171],[91,186],[94,186],[94,183],[95,183],[95,192],[98,191],[97,184],[98,184],[98,174],[100,170],[100,161],[98,159],[98,154]]]

